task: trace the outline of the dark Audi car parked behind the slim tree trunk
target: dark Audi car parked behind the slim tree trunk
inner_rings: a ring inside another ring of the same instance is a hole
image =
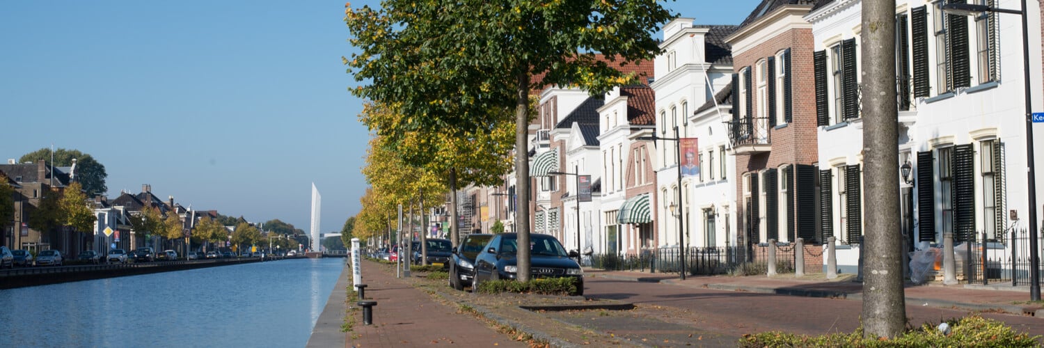
[[[584,270],[570,257],[559,239],[548,234],[529,234],[529,279],[569,277],[577,280],[576,293],[584,295]],[[503,233],[495,235],[485,245],[484,251],[475,258],[474,287],[485,280],[515,279],[518,272],[518,235]]]

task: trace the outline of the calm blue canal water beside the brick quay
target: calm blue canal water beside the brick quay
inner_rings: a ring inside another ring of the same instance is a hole
[[[343,268],[288,259],[3,289],[0,347],[304,347]]]

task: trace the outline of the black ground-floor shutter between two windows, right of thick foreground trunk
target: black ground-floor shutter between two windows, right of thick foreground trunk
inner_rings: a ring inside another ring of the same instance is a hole
[[[953,146],[953,238],[975,239],[975,147]]]

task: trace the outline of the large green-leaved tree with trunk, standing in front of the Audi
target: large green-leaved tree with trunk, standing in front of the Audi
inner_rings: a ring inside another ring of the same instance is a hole
[[[349,5],[346,5],[349,6]],[[515,109],[519,243],[529,242],[528,94],[543,84],[579,86],[600,95],[631,83],[597,60],[622,64],[660,52],[652,39],[671,18],[656,0],[384,0],[381,9],[346,9],[351,42],[343,59],[369,100],[392,101],[404,117],[390,136],[424,129],[479,133],[501,121],[490,110]],[[398,142],[398,139],[392,139]],[[519,250],[519,280],[529,279],[529,250]]]

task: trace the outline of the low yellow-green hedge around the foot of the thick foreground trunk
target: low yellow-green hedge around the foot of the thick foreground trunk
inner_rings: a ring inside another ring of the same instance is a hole
[[[740,347],[1038,347],[1040,337],[1019,333],[1001,322],[971,316],[951,319],[949,334],[933,324],[910,329],[893,340],[863,339],[862,329],[852,333],[808,337],[779,331],[744,334]]]

